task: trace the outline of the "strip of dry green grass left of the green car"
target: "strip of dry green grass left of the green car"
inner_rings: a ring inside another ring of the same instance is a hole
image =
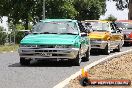
[[[10,52],[10,51],[17,51],[19,45],[0,45],[0,53],[2,52]]]

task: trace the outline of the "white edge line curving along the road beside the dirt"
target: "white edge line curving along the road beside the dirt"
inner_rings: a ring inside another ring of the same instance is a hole
[[[114,57],[118,57],[120,55],[123,55],[123,54],[126,54],[126,53],[129,53],[129,52],[132,52],[132,49],[130,50],[127,50],[127,51],[123,51],[123,52],[119,52],[119,53],[115,53],[113,55],[109,55],[107,57],[104,57],[102,59],[99,59],[98,61],[95,61],[87,66],[84,67],[85,70],[88,70],[90,69],[91,67],[103,62],[103,61],[106,61],[108,59],[112,59]],[[81,70],[81,69],[80,69]],[[66,78],[64,81],[60,82],[59,84],[57,84],[56,86],[54,86],[53,88],[63,88],[65,87],[67,84],[69,84],[70,80],[72,79],[75,79],[77,76],[81,75],[81,71],[78,71],[76,72],[75,74],[71,75],[69,78]]]

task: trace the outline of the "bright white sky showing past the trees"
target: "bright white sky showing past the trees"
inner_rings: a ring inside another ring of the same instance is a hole
[[[106,4],[107,4],[107,6],[106,6],[107,11],[106,11],[105,15],[100,17],[100,19],[105,19],[110,14],[115,16],[118,20],[119,19],[124,19],[124,20],[128,19],[128,10],[127,9],[125,9],[123,11],[117,10],[116,6],[115,6],[115,2],[107,1]],[[0,26],[3,26],[4,28],[8,29],[6,20],[7,20],[7,17],[4,17],[3,23],[0,23]]]

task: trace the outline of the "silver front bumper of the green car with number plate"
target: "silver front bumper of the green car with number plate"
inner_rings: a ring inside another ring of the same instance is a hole
[[[74,59],[78,54],[79,48],[19,48],[21,58],[25,59]]]

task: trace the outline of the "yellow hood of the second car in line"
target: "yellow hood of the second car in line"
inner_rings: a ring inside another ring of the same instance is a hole
[[[105,37],[109,36],[109,32],[91,32],[89,34],[90,38],[94,38],[94,39],[103,39]]]

